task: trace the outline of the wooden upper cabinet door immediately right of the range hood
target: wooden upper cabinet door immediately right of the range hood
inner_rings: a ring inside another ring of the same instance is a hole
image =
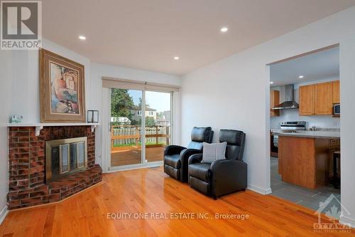
[[[315,115],[315,85],[302,85],[300,93],[300,115]]]

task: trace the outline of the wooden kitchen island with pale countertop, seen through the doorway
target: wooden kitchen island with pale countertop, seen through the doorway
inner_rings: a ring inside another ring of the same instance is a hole
[[[291,184],[316,189],[327,184],[332,144],[340,132],[275,132],[278,135],[278,173]]]

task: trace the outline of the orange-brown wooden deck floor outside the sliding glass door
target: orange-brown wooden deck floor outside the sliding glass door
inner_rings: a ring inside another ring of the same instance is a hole
[[[163,160],[163,146],[146,147],[146,159],[148,162]],[[119,167],[127,164],[141,163],[141,147],[113,147],[111,149],[111,167]]]

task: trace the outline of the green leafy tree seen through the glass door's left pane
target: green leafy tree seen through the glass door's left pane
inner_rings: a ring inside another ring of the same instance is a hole
[[[111,90],[111,116],[127,117],[132,121],[131,109],[134,107],[133,98],[129,95],[128,90],[112,89]]]

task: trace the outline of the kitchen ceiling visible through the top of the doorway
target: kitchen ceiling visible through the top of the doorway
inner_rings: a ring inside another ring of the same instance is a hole
[[[300,79],[299,75],[305,77]],[[339,47],[271,65],[271,87],[339,78]]]

